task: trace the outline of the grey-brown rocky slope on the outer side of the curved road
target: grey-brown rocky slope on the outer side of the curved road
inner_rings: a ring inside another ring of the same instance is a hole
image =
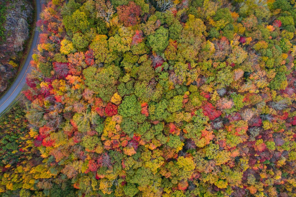
[[[8,64],[18,62],[18,52],[24,50],[25,40],[29,38],[29,23],[33,21],[33,6],[30,0],[13,0],[8,4],[6,14],[6,41],[0,45],[0,95],[7,88],[7,81],[17,72]]]

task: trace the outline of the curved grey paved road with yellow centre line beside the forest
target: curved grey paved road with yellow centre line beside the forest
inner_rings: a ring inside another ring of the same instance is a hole
[[[38,21],[40,19],[39,14],[41,12],[41,1],[36,0],[36,16]],[[31,71],[30,68],[30,61],[32,59],[33,51],[37,46],[38,43],[38,37],[39,37],[39,31],[35,30],[33,42],[31,45],[31,49],[28,55],[28,58],[26,59],[26,62],[24,66],[22,67],[22,70],[20,74],[17,76],[15,82],[12,84],[12,86],[9,88],[9,90],[4,94],[4,96],[0,99],[0,116],[4,112],[4,110],[10,106],[12,101],[14,101],[17,98],[17,95],[22,91],[22,88],[24,87],[26,83],[26,75]]]

